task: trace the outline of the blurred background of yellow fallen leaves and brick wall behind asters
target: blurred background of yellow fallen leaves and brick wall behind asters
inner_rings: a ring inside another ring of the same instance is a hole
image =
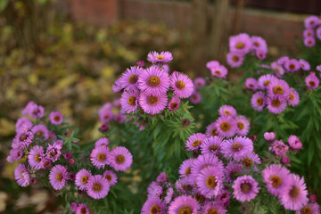
[[[171,70],[207,76],[225,63],[228,37],[264,37],[268,57],[298,52],[303,21],[319,0],[0,0],[0,213],[59,213],[42,185],[19,187],[5,161],[15,121],[31,100],[59,110],[93,141],[111,85],[150,51],[170,51]],[[239,78],[229,70],[228,78]]]

